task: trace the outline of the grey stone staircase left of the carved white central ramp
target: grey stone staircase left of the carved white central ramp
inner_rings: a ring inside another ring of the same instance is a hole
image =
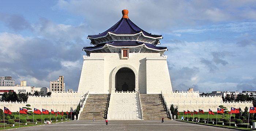
[[[110,94],[89,94],[79,120],[104,120],[107,117]]]

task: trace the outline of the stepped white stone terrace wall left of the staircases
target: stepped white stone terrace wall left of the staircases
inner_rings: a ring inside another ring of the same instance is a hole
[[[87,92],[52,92],[51,96],[29,96],[27,102],[0,102],[0,108],[7,107],[11,112],[19,112],[19,108],[26,107],[26,104],[31,105],[30,111],[34,111],[34,108],[46,109],[49,112],[51,109],[54,112],[71,112],[76,109],[80,103],[81,109],[86,103]]]

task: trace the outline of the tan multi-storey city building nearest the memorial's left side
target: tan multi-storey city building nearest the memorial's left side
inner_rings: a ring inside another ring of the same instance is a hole
[[[51,92],[65,91],[64,76],[59,76],[59,79],[57,79],[57,81],[50,81],[50,91]]]

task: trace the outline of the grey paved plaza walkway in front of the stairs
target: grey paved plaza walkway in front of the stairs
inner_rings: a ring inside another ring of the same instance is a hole
[[[106,126],[103,120],[78,120],[78,121],[69,121],[57,124],[35,126],[20,128],[12,131],[237,131],[227,128],[204,126],[193,123],[184,123],[174,120],[165,120],[164,123],[161,123],[161,120],[158,121],[149,121],[149,120],[109,120],[109,125]]]

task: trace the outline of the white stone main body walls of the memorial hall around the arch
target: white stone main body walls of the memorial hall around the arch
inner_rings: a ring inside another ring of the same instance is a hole
[[[78,92],[111,93],[112,82],[115,82],[112,74],[120,65],[129,65],[136,70],[140,93],[172,91],[167,56],[160,56],[159,53],[129,53],[128,59],[121,59],[121,53],[91,53],[90,57],[83,57]]]

